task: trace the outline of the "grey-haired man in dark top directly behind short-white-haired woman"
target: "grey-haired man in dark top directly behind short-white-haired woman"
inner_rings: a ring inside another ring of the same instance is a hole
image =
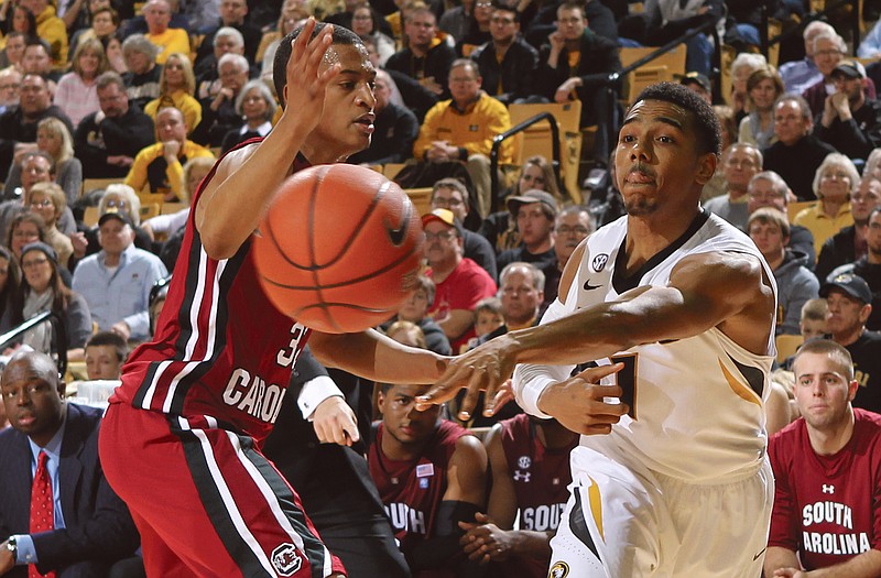
[[[217,64],[220,88],[199,101],[202,122],[192,131],[193,141],[205,146],[220,146],[224,137],[244,122],[236,110],[236,99],[248,83],[248,61],[240,54],[225,54]]]

